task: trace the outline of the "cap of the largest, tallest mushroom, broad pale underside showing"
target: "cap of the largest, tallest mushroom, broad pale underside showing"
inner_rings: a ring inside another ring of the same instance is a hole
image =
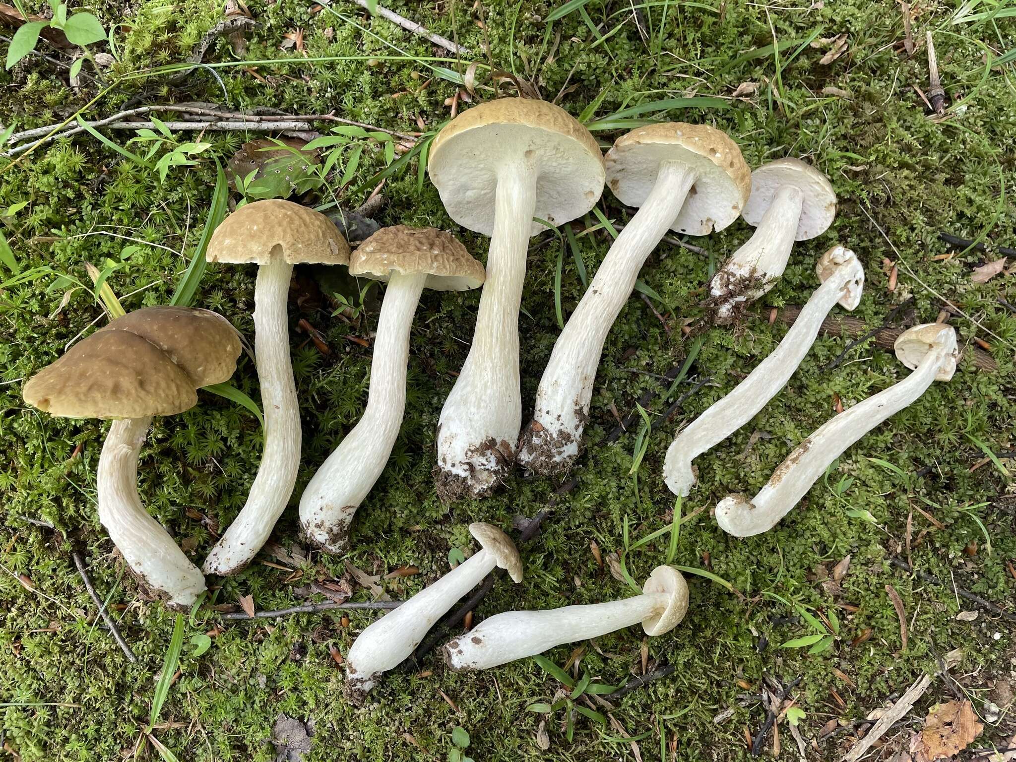
[[[499,168],[524,162],[536,173],[534,216],[561,225],[585,214],[604,191],[604,156],[589,131],[559,106],[503,98],[451,120],[431,144],[427,172],[448,215],[494,232]],[[546,228],[532,223],[529,235]]]

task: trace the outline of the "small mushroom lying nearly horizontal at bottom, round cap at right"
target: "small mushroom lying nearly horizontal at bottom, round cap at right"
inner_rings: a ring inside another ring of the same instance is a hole
[[[487,670],[639,622],[646,635],[655,637],[677,627],[687,611],[685,578],[672,566],[657,566],[642,586],[641,595],[609,604],[497,614],[446,643],[444,658],[456,672]]]

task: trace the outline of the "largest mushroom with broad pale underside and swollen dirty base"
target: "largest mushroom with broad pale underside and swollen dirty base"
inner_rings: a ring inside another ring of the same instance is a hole
[[[462,112],[431,145],[428,172],[449,216],[491,236],[472,345],[438,422],[438,494],[482,497],[508,472],[522,423],[518,309],[527,242],[581,216],[604,189],[604,157],[560,107],[520,98]]]

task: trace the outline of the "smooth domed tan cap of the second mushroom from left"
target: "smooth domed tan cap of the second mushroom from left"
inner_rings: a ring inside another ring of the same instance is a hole
[[[319,211],[277,198],[241,206],[215,229],[205,255],[209,262],[264,264],[282,257],[290,264],[348,264],[350,244]]]

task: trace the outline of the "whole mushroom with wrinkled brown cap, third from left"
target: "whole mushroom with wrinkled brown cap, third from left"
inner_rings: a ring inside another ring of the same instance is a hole
[[[398,437],[405,410],[409,329],[424,288],[465,291],[484,282],[484,266],[454,236],[433,228],[384,228],[350,260],[350,274],[387,280],[378,318],[367,409],[318,468],[300,499],[304,533],[339,553],[357,508],[374,487]]]

